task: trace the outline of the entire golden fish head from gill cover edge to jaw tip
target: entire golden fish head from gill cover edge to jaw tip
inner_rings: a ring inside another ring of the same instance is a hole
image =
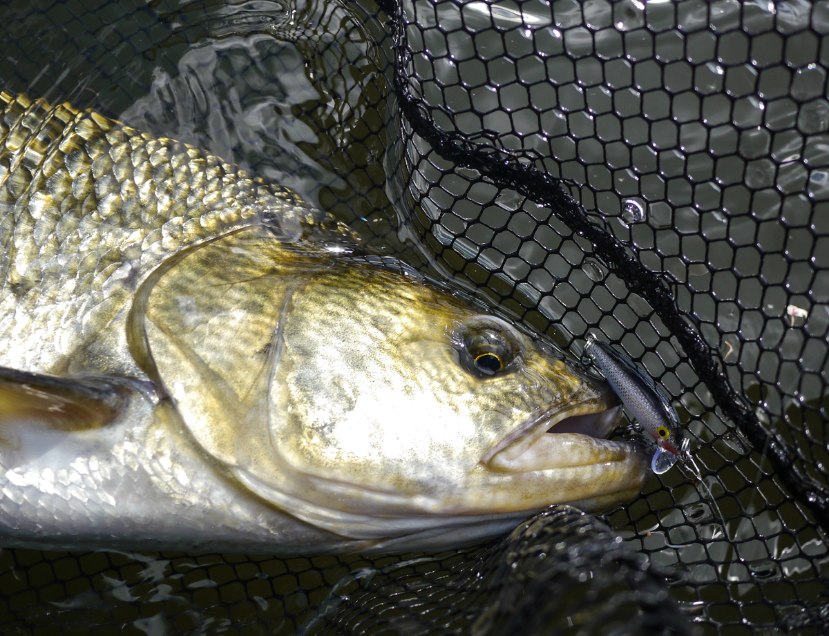
[[[162,277],[149,353],[196,441],[278,508],[381,540],[552,503],[606,511],[642,489],[646,451],[605,439],[608,385],[511,321],[371,263],[239,263]]]

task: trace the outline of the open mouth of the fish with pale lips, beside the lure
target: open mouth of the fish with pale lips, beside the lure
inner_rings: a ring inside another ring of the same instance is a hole
[[[558,405],[527,418],[483,455],[489,470],[527,473],[627,462],[642,449],[631,441],[606,439],[618,426],[622,406],[606,393]]]

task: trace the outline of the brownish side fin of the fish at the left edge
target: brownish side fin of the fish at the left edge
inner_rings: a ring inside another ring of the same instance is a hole
[[[25,423],[61,431],[101,428],[118,417],[127,399],[126,386],[115,380],[0,367],[0,436]]]

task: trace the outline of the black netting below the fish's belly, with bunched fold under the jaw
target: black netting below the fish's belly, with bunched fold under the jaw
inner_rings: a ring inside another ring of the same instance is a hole
[[[416,557],[7,552],[5,634],[691,634],[647,557],[572,508]]]

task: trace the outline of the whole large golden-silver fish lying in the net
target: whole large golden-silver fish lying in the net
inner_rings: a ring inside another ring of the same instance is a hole
[[[543,337],[196,147],[0,108],[0,547],[434,551],[641,492]]]

